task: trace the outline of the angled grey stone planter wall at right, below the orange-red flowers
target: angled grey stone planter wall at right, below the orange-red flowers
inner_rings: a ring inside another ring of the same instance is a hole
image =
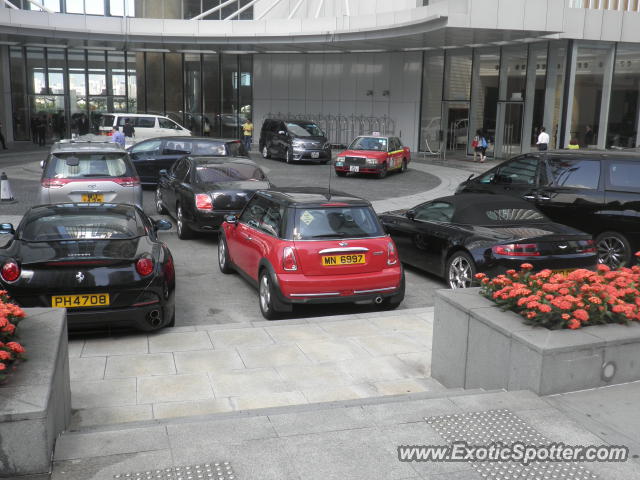
[[[640,380],[640,324],[532,327],[478,291],[437,292],[431,375],[443,385],[550,395]]]

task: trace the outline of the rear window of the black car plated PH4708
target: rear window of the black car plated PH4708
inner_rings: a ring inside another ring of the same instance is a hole
[[[122,240],[143,236],[144,228],[135,213],[97,214],[84,213],[46,214],[27,219],[20,238],[27,242],[62,240]]]

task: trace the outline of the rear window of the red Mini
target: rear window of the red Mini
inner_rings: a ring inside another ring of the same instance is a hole
[[[294,240],[363,238],[384,235],[369,207],[298,208]]]

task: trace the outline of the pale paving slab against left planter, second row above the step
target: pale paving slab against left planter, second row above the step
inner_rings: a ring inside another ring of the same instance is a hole
[[[71,407],[95,408],[136,404],[136,379],[71,382]]]

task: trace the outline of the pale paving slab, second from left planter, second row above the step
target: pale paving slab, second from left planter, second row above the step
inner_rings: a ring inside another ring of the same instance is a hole
[[[181,402],[213,398],[204,374],[138,377],[138,403]]]

